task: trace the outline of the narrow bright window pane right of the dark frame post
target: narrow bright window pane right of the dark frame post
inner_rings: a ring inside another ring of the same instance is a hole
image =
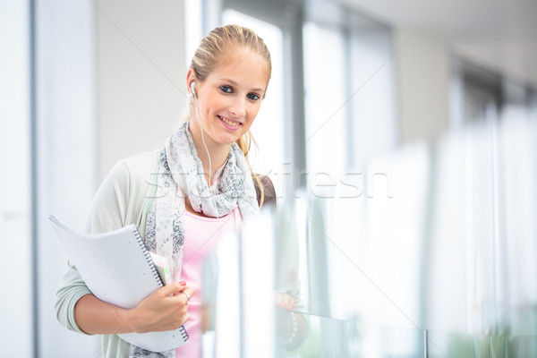
[[[307,166],[317,183],[343,171],[345,142],[344,38],[341,31],[307,22],[303,27]]]

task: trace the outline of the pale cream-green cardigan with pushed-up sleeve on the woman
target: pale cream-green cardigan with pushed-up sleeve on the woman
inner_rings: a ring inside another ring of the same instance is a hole
[[[157,192],[160,150],[119,161],[107,175],[95,195],[82,231],[99,234],[134,224],[145,237],[146,221]],[[265,192],[265,205],[276,203],[274,186],[268,176],[260,175]],[[260,200],[260,190],[254,181]],[[74,319],[74,305],[85,294],[91,294],[78,270],[67,262],[64,278],[56,291],[55,314],[66,328],[86,334]],[[130,345],[117,335],[103,335],[102,356],[128,357]]]

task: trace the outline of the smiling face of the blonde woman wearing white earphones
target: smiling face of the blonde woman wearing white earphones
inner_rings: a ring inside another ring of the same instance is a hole
[[[205,81],[196,81],[192,69],[187,76],[188,88],[196,81],[199,108],[192,110],[191,132],[200,131],[201,121],[213,145],[231,145],[250,129],[268,85],[267,62],[260,55],[238,48],[223,57]]]

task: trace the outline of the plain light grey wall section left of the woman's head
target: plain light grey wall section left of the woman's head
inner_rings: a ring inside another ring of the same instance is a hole
[[[158,149],[180,124],[186,103],[183,2],[100,1],[98,170]]]

